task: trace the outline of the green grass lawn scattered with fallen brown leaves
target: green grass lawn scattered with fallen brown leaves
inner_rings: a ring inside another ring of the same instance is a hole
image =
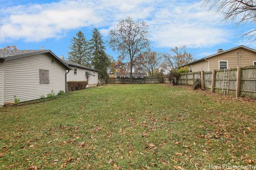
[[[256,164],[256,101],[165,84],[108,85],[0,108],[0,169]]]

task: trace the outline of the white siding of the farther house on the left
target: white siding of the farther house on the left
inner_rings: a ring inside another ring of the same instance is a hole
[[[67,74],[67,81],[88,81],[89,87],[97,86],[98,84],[98,72],[91,70],[81,69],[77,67],[71,67],[73,70],[70,70]],[[77,69],[77,74],[74,74],[74,68]],[[95,76],[90,76],[87,80],[85,72],[95,73]]]

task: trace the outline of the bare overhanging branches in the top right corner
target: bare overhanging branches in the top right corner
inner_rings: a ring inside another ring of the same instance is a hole
[[[227,21],[236,21],[236,24],[244,24],[256,21],[256,1],[255,0],[202,0],[206,7],[210,10],[216,10],[224,14],[224,19]],[[256,40],[256,29],[243,34],[249,36],[249,39]]]

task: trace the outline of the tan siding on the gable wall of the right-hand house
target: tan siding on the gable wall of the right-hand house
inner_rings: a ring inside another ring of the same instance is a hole
[[[239,53],[239,61],[237,60],[237,53]],[[223,53],[209,58],[210,69],[219,69],[219,61],[228,61],[229,68],[236,68],[238,66],[244,67],[253,64],[256,60],[256,54],[244,48],[231,50],[230,52]]]

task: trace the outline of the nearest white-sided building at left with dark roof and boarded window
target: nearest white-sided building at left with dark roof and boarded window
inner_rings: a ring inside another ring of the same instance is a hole
[[[66,91],[67,70],[51,50],[0,50],[0,106]]]

